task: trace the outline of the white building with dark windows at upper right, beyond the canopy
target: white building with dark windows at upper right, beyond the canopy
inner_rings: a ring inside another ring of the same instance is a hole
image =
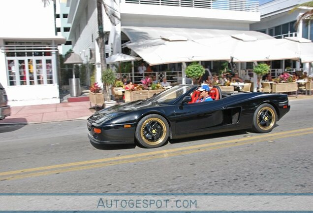
[[[259,31],[276,38],[299,36],[313,40],[312,20],[301,21],[297,29],[294,26],[297,18],[312,8],[302,7],[290,12],[292,8],[304,2],[308,2],[308,0],[272,0],[260,5],[261,20],[251,24],[250,30]],[[291,60],[272,62],[272,68],[278,67],[282,70],[286,67],[300,70],[300,63]],[[303,69],[308,71],[309,64],[304,64]]]

